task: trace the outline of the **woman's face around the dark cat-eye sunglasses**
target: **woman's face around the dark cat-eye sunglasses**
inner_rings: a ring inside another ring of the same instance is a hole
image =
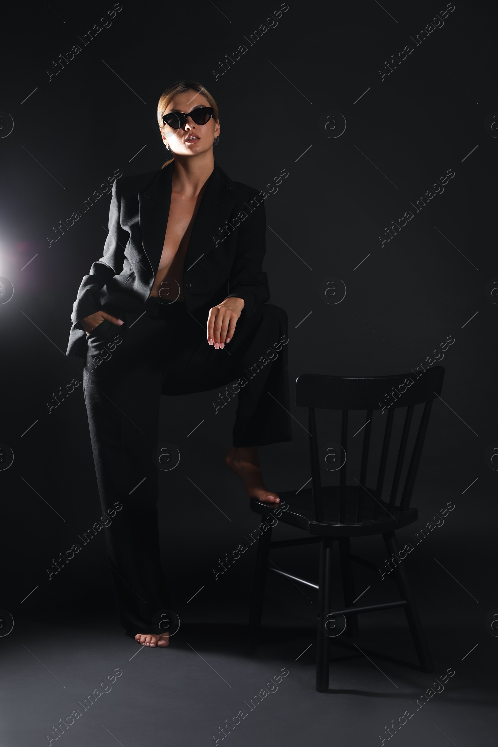
[[[189,90],[177,93],[166,107],[164,114],[170,111],[183,111],[188,114],[199,106],[209,106],[208,99],[202,93]],[[205,125],[197,125],[192,117],[187,117],[183,127],[178,130],[163,124],[161,128],[164,145],[169,145],[174,155],[201,155],[210,150],[214,138],[220,134],[220,124],[211,117]]]

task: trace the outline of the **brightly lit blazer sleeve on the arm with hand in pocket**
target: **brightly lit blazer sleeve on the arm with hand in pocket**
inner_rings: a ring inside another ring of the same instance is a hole
[[[99,291],[114,275],[119,275],[125,258],[125,247],[129,234],[121,226],[121,196],[119,179],[113,184],[111,208],[109,210],[109,233],[105,241],[104,255],[93,263],[90,274],[81,281],[71,314],[76,329],[81,327],[81,320],[100,309]]]

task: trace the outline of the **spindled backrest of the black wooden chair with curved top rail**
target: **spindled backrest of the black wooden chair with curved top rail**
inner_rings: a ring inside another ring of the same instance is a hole
[[[346,462],[340,468],[340,500],[338,521],[345,523],[346,518],[346,469],[349,466],[348,453],[348,415],[349,410],[366,410],[363,428],[363,448],[361,454],[360,480],[358,486],[358,504],[356,521],[363,520],[364,498],[367,491],[367,467],[370,453],[370,436],[372,433],[373,411],[379,410],[385,419],[384,439],[376,480],[376,503],[373,519],[378,518],[382,489],[385,483],[387,456],[389,454],[391,433],[393,430],[396,409],[406,407],[405,422],[399,442],[396,468],[393,474],[389,507],[396,506],[399,493],[399,482],[405,459],[411,421],[415,406],[424,404],[422,418],[411,454],[411,460],[405,477],[405,485],[399,500],[399,509],[405,511],[410,506],[415,477],[420,463],[423,443],[426,438],[432,400],[441,394],[444,368],[435,366],[420,374],[410,371],[393,376],[326,376],[323,374],[304,373],[296,380],[296,405],[308,407],[308,424],[310,434],[311,484],[315,521],[323,521],[323,491],[320,479],[319,444],[317,442],[317,421],[315,409],[342,410],[342,427],[340,446],[346,453]],[[379,418],[381,415],[378,416]]]

